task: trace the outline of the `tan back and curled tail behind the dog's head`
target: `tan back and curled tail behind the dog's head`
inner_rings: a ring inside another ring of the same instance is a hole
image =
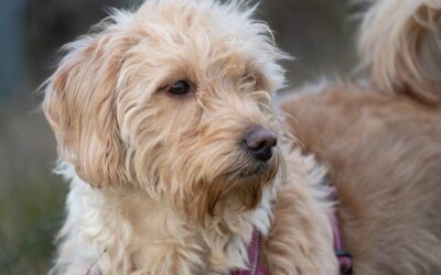
[[[354,274],[441,274],[441,2],[375,1],[359,50],[366,85],[320,84],[283,109],[329,167]]]

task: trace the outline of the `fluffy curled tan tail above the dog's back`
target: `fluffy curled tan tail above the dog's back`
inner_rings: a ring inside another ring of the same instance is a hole
[[[441,1],[374,1],[362,24],[359,52],[381,90],[441,103]]]

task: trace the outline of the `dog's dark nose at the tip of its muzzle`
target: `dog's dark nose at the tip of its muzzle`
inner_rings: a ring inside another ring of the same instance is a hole
[[[257,127],[245,134],[244,143],[256,160],[266,162],[272,156],[272,147],[277,145],[277,138],[271,131]]]

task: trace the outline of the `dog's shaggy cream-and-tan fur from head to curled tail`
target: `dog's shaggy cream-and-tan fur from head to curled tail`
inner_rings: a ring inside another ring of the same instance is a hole
[[[366,85],[287,116],[287,56],[241,1],[148,0],[66,45],[44,84],[71,182],[51,274],[229,274],[258,229],[269,274],[336,275],[329,182],[356,275],[441,274],[441,3],[372,2]],[[265,164],[256,127],[278,135]]]

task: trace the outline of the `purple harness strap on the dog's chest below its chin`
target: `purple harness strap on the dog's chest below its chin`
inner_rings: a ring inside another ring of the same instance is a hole
[[[248,246],[249,267],[248,270],[232,272],[230,275],[269,275],[260,264],[260,232],[254,229],[251,242]]]

